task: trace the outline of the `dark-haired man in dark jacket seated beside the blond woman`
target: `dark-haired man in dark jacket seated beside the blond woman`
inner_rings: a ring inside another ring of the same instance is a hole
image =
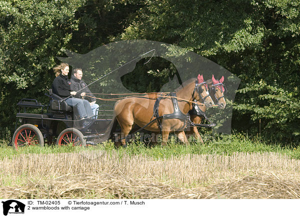
[[[88,95],[90,95],[92,97],[95,97],[95,96],[91,93],[91,91],[88,89],[88,87],[85,87],[86,83],[81,78],[82,78],[82,69],[81,68],[73,69],[73,74],[71,75],[71,90],[77,92],[74,95],[75,97],[87,99],[89,101],[89,104],[90,104],[93,114],[97,115],[97,113],[98,113],[97,108],[99,107],[99,105],[95,103],[96,100],[94,98],[86,97],[86,93],[89,93]],[[83,87],[85,87],[85,88],[82,89]],[[80,90],[80,91],[78,91],[78,90]]]

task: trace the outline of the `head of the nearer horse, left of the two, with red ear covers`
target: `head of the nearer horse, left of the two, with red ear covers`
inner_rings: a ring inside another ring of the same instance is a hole
[[[197,101],[202,100],[206,107],[211,107],[213,105],[213,101],[208,92],[207,83],[204,81],[202,74],[198,74],[197,76],[194,91],[198,93],[198,98],[195,97]]]

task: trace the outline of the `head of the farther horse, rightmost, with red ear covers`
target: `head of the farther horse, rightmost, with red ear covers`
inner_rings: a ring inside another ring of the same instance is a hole
[[[209,85],[209,93],[214,96],[218,107],[223,109],[226,106],[226,102],[224,99],[224,92],[226,91],[223,84],[224,76],[222,76],[219,80],[216,80],[212,74],[211,80],[212,82]]]

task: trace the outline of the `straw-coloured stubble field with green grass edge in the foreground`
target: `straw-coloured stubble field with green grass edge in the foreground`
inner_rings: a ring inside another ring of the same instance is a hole
[[[0,147],[2,198],[300,198],[300,149],[220,136],[205,145],[134,141]]]

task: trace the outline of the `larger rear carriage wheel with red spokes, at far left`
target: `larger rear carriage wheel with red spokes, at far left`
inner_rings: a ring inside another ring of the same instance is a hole
[[[12,136],[12,144],[15,149],[29,145],[43,146],[44,141],[40,130],[29,123],[19,126]]]

